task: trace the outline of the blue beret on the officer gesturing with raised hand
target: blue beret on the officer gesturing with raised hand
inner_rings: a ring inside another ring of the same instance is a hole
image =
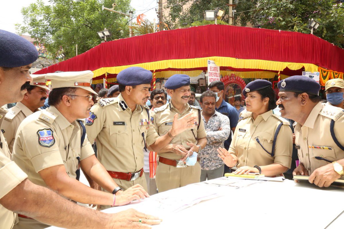
[[[140,84],[150,84],[153,78],[151,71],[140,67],[129,67],[120,71],[117,75],[117,81],[126,86],[135,86]]]

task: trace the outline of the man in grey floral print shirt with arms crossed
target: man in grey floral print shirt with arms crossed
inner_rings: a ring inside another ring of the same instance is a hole
[[[201,165],[201,182],[223,176],[224,164],[217,157],[217,149],[224,147],[224,141],[230,135],[227,116],[215,111],[216,94],[212,91],[203,92],[200,98],[202,118],[207,132],[207,145],[198,154]]]

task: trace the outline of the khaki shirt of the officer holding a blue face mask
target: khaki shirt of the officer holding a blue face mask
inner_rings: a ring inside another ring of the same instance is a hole
[[[170,144],[178,144],[183,145],[185,149],[189,150],[191,147],[186,144],[186,142],[190,142],[193,144],[197,144],[197,139],[206,137],[206,131],[204,128],[203,119],[199,119],[198,111],[200,109],[196,106],[190,106],[188,103],[185,104],[185,109],[182,113],[180,113],[176,108],[173,107],[172,103],[165,104],[159,108],[155,108],[152,118],[153,118],[153,125],[159,136],[163,136],[172,128],[173,117],[175,113],[178,113],[178,118],[185,116],[186,114],[193,113],[193,116],[197,117],[197,123],[199,122],[199,128],[197,130],[197,126],[194,126],[188,130],[183,131],[182,133],[176,135],[170,142]],[[180,160],[182,156],[177,155],[173,152],[164,152],[159,153],[159,156],[173,159],[173,160]]]

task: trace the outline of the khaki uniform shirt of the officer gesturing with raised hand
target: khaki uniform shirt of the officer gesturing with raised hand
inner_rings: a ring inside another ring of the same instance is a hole
[[[144,142],[159,137],[148,120],[149,108],[137,105],[131,112],[121,94],[101,99],[91,108],[85,127],[88,139],[97,142],[97,157],[105,169],[137,172],[143,168]]]

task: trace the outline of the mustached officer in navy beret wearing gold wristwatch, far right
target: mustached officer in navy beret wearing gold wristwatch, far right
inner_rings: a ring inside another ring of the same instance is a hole
[[[322,104],[320,85],[304,76],[278,83],[277,105],[282,117],[293,119],[299,166],[293,175],[310,175],[309,182],[328,187],[344,175],[344,112]]]

